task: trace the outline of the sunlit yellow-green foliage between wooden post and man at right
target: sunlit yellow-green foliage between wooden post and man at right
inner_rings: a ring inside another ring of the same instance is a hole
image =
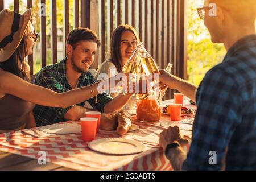
[[[205,73],[221,63],[226,53],[222,44],[213,44],[204,21],[197,14],[203,0],[188,1],[188,80],[199,85]]]

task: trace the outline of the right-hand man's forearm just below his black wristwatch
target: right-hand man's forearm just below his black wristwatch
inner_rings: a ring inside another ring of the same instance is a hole
[[[172,168],[174,168],[175,171],[182,170],[182,164],[186,158],[187,158],[187,154],[185,153],[185,151],[181,146],[176,148],[171,148],[167,154],[167,159],[170,160]]]

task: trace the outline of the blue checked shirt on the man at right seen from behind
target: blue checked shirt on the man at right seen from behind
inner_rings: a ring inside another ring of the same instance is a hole
[[[256,169],[256,35],[239,40],[196,94],[193,137],[183,170]],[[216,165],[214,162],[216,152]],[[211,158],[212,157],[212,158]]]

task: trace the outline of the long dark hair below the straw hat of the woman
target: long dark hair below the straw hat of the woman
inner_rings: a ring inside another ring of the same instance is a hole
[[[11,57],[6,61],[2,62],[0,64],[0,68],[28,81],[26,76],[26,65],[23,64],[27,55],[27,45],[23,37],[13,55],[11,55]]]

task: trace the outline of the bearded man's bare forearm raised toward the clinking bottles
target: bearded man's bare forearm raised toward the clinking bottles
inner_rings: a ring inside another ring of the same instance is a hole
[[[133,94],[119,95],[109,101],[104,107],[104,113],[113,113],[116,110],[121,110],[126,105],[127,101],[133,96]]]

